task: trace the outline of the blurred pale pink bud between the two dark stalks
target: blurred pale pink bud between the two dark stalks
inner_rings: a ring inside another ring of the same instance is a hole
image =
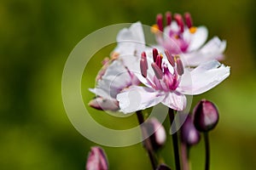
[[[149,139],[154,150],[160,149],[166,143],[166,131],[165,128],[156,118],[150,118],[143,125],[148,134],[152,134]]]

